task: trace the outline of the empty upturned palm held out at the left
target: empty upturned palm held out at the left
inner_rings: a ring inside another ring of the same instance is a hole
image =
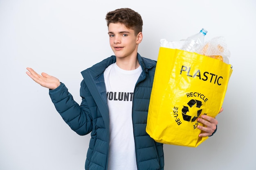
[[[28,72],[27,75],[31,77],[36,83],[40,84],[43,87],[46,87],[48,89],[56,89],[59,85],[61,85],[61,82],[58,80],[58,78],[54,76],[50,76],[46,73],[42,73],[42,76],[40,74],[37,74],[32,68],[27,68]]]

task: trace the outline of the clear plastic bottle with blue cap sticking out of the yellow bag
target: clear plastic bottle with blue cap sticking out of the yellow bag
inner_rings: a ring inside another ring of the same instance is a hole
[[[204,36],[207,32],[208,31],[202,28],[199,33],[188,37],[186,39],[186,43],[182,46],[181,50],[198,53],[204,45]]]

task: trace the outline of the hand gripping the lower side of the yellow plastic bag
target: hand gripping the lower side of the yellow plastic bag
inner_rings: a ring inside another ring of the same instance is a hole
[[[222,111],[223,111],[223,108],[220,109],[220,112]],[[199,134],[199,137],[206,137],[206,136],[212,135],[213,132],[216,130],[217,124],[218,124],[218,120],[207,115],[202,115],[200,118],[198,118],[198,122],[201,122],[202,124],[205,125],[205,126],[197,126],[198,129],[203,131],[203,133]]]

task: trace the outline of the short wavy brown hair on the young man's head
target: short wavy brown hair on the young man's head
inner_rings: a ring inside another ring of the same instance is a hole
[[[120,8],[115,11],[110,11],[106,15],[107,26],[110,23],[121,23],[127,28],[134,30],[135,35],[142,32],[141,15],[129,8]]]

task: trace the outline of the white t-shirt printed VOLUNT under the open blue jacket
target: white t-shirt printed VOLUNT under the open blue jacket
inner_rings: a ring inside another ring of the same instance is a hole
[[[108,170],[137,170],[132,100],[141,72],[141,66],[135,70],[122,70],[116,63],[104,71],[110,118]]]

